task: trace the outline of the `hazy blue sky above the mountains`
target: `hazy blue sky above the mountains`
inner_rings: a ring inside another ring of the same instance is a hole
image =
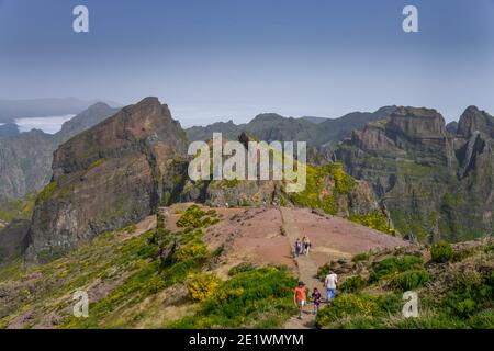
[[[72,31],[72,9],[90,33]],[[402,31],[414,4],[419,33]],[[386,104],[494,114],[494,0],[0,0],[0,99],[157,95],[183,125]]]

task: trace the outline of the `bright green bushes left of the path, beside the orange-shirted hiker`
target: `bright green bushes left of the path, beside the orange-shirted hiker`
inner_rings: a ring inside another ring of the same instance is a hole
[[[203,301],[195,315],[172,328],[277,328],[295,313],[295,279],[283,268],[267,267],[235,274]]]

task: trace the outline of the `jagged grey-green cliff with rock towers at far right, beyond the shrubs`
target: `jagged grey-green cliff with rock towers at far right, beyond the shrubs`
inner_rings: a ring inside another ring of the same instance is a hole
[[[492,235],[493,117],[470,106],[448,129],[435,110],[400,107],[353,132],[336,157],[372,185],[404,235]]]

